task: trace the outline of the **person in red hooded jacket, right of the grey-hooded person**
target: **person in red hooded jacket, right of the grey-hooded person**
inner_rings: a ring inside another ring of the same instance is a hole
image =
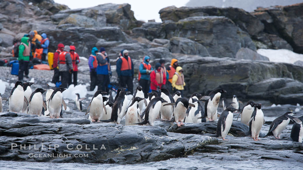
[[[71,54],[73,69],[69,72],[68,76],[68,85],[74,84],[77,85],[77,74],[78,74],[78,63],[80,63],[79,55],[75,52],[75,46],[69,46],[70,50],[69,53]],[[72,83],[72,75],[74,75],[74,81]]]

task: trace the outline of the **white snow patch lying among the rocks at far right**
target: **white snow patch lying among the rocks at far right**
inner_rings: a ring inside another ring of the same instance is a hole
[[[270,62],[293,64],[298,60],[303,61],[303,54],[294,53],[286,49],[258,49],[257,53],[268,57]]]

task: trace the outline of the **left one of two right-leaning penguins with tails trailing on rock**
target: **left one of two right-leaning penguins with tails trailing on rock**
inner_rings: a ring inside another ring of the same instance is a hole
[[[113,122],[120,124],[122,117],[125,116],[125,111],[128,104],[127,95],[129,94],[131,94],[130,91],[120,91],[119,96],[113,105],[111,118],[108,120],[101,121],[107,123]]]

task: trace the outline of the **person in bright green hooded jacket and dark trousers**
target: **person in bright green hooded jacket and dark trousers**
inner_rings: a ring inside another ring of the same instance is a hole
[[[29,63],[29,53],[31,45],[28,43],[28,37],[22,37],[21,43],[19,45],[19,73],[18,80],[23,81],[23,72],[25,73],[26,78],[28,78],[28,63]]]

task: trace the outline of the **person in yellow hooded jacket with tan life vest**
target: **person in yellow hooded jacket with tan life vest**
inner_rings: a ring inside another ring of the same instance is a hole
[[[178,66],[176,68],[176,72],[172,76],[171,86],[172,86],[172,90],[174,92],[180,91],[181,92],[181,97],[183,97],[183,90],[184,90],[184,86],[185,86],[185,81],[184,81],[184,75],[183,75],[182,67]]]

